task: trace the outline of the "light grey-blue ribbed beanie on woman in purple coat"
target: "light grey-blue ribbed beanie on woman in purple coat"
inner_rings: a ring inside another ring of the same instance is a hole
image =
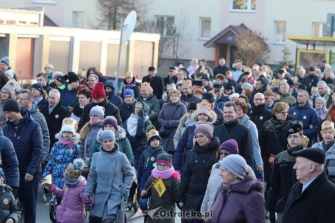
[[[230,173],[243,179],[247,172],[246,160],[238,154],[232,154],[220,161],[220,164]]]

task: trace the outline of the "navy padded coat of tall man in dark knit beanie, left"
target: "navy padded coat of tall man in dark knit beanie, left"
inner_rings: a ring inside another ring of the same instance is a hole
[[[18,129],[15,132],[14,124],[10,121],[4,126],[4,135],[8,137],[15,148],[19,161],[20,176],[26,173],[31,175],[42,172],[41,161],[43,156],[43,135],[40,124],[33,121],[30,113],[21,109]]]

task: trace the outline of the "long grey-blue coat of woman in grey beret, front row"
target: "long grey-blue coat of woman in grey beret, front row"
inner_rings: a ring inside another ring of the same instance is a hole
[[[117,143],[115,146],[116,151],[111,154],[103,151],[93,154],[89,169],[84,196],[92,195],[96,185],[92,214],[97,217],[104,216],[106,203],[108,215],[116,215],[119,203],[129,193],[135,176],[127,157],[119,152]],[[123,176],[123,191],[121,191]]]

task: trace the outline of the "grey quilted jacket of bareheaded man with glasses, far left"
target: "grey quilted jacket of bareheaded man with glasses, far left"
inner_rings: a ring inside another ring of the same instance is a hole
[[[42,113],[40,113],[39,108],[35,105],[31,105],[31,109],[29,110],[31,114],[31,118],[40,124],[43,134],[43,157],[42,161],[47,161],[49,156],[49,148],[50,148],[50,135],[49,129],[47,125],[47,121]]]

